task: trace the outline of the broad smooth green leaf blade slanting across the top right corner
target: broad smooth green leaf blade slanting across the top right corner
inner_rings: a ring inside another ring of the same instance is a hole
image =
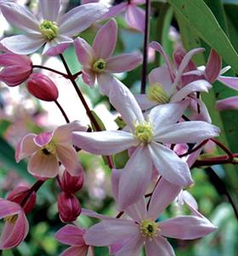
[[[207,4],[201,0],[168,0],[168,3],[238,73],[238,55]]]

